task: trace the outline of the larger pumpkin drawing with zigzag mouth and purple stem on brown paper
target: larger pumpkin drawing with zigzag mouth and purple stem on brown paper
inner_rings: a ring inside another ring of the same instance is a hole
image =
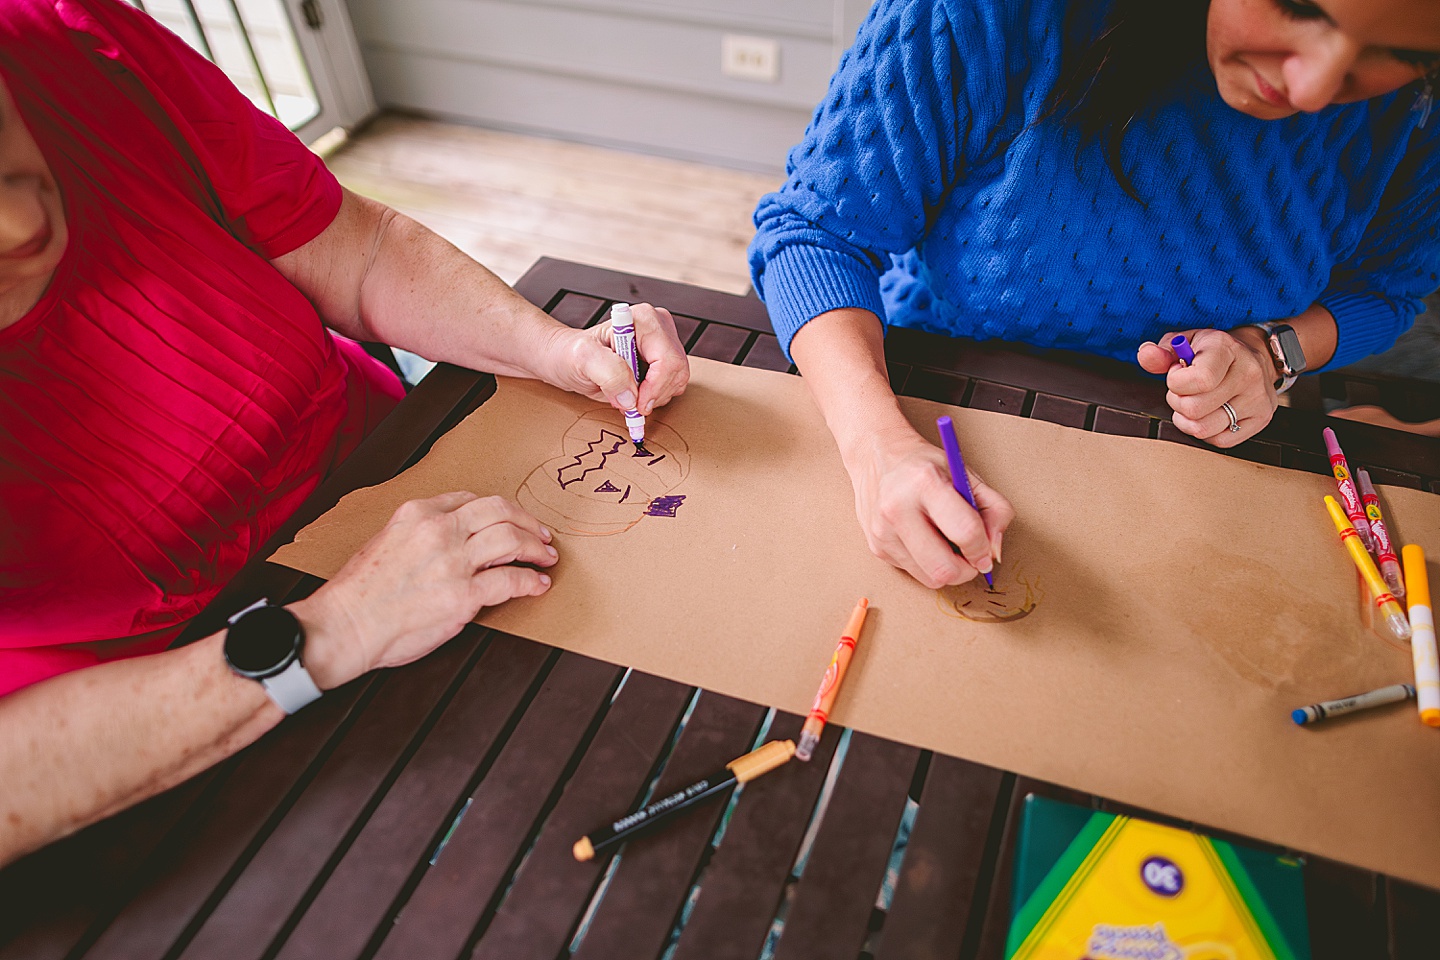
[[[611,409],[576,420],[560,449],[516,491],[516,501],[550,530],[608,537],[645,515],[675,517],[684,501],[668,494],[690,474],[690,446],[654,419],[645,427],[648,456],[635,449],[624,417]]]

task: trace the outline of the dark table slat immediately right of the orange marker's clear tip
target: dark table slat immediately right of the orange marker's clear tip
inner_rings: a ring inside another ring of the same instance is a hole
[[[920,750],[852,733],[776,960],[852,960],[870,927]]]

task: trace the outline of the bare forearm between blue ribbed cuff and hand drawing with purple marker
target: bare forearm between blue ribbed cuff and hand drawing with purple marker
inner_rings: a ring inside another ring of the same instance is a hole
[[[884,331],[868,309],[832,309],[799,328],[791,356],[809,386],[841,458],[913,436],[886,370]]]

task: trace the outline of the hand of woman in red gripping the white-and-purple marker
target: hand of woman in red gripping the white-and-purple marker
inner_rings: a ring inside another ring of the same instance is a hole
[[[612,345],[609,320],[588,330],[562,331],[553,379],[546,380],[592,400],[605,400],[622,412],[639,410],[644,416],[684,393],[690,383],[690,358],[675,332],[675,318],[664,307],[649,304],[632,304],[631,315],[635,318],[635,351],[649,364],[638,394],[629,364]]]

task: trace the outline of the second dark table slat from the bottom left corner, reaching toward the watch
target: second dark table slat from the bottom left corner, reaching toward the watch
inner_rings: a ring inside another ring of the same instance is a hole
[[[243,864],[253,846],[275,826],[298,796],[305,774],[327,753],[337,731],[346,728],[374,678],[321,697],[251,746],[235,761],[226,789],[184,836],[171,835],[154,866],[151,882],[141,888],[105,927],[89,950],[94,957],[160,957],[226,877]]]

